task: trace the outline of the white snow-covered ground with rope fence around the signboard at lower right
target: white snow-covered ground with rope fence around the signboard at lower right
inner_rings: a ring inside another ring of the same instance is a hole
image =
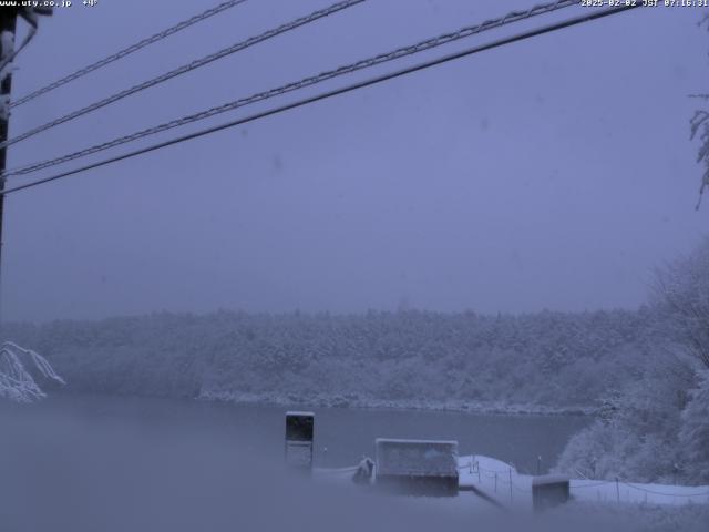
[[[459,497],[384,499],[400,510],[430,511],[445,523],[429,530],[459,530],[453,524],[460,521],[460,530],[706,532],[709,522],[709,487],[619,482],[616,490],[615,482],[572,480],[568,503],[535,512],[531,475],[489,457],[463,456],[458,463]],[[350,485],[351,475],[351,469],[315,470],[316,479]]]

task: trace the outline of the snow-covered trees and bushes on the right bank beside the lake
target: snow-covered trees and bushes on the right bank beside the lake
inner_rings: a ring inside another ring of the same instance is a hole
[[[558,469],[635,481],[709,482],[709,238],[657,272],[664,350],[641,378],[604,402],[575,436]]]

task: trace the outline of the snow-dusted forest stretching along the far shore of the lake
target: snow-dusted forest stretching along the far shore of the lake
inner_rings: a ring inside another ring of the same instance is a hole
[[[338,406],[577,411],[674,341],[659,307],[485,316],[160,313],[9,324],[69,389]],[[522,407],[520,407],[522,406]]]

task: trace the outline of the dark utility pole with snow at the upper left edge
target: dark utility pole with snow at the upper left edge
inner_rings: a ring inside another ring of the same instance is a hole
[[[10,58],[10,54],[14,52],[14,33],[18,23],[18,11],[17,9],[0,9],[0,61],[6,62],[4,60]],[[11,39],[8,39],[8,33],[12,35]],[[10,62],[11,63],[11,62]],[[8,124],[10,120],[10,92],[12,90],[12,73],[10,71],[10,63],[6,64],[7,75],[2,78],[0,82],[0,106],[2,108],[0,111],[0,142],[4,142],[8,140]],[[0,305],[2,305],[2,222],[4,219],[4,176],[2,173],[4,172],[8,163],[8,149],[0,149]],[[0,311],[0,316],[1,311]],[[2,323],[0,321],[0,326]]]

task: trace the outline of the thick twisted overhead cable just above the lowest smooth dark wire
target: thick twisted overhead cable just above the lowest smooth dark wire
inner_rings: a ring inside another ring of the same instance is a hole
[[[55,166],[58,164],[62,164],[62,163],[66,163],[70,161],[74,161],[76,158],[81,158],[81,157],[85,157],[88,155],[93,155],[95,153],[122,145],[122,144],[126,144],[133,141],[136,141],[138,139],[143,139],[145,136],[150,136],[150,135],[154,135],[157,133],[162,133],[164,131],[174,129],[174,127],[179,127],[193,122],[197,122],[201,120],[205,120],[205,119],[209,119],[212,116],[216,116],[217,114],[222,114],[228,111],[233,111],[236,110],[238,108],[243,108],[253,103],[257,103],[257,102],[261,102],[264,100],[268,100],[275,96],[279,96],[292,91],[296,91],[298,89],[304,89],[306,86],[311,86],[315,85],[317,83],[321,83],[323,81],[328,81],[330,79],[340,76],[340,75],[345,75],[345,74],[350,74],[353,72],[357,72],[359,70],[363,70],[363,69],[368,69],[374,65],[379,65],[389,61],[393,61],[397,59],[401,59],[404,58],[407,55],[412,55],[414,53],[419,53],[419,52],[423,52],[427,50],[431,50],[433,48],[436,47],[441,47],[443,44],[448,44],[450,42],[454,42],[458,41],[460,39],[464,39],[477,33],[482,33],[483,31],[487,31],[487,30],[492,30],[494,28],[500,28],[502,25],[505,24],[510,24],[513,22],[517,22],[524,19],[528,19],[532,17],[536,17],[536,16],[541,16],[541,14],[545,14],[545,13],[549,13],[552,11],[556,11],[558,9],[562,8],[567,8],[567,7],[572,7],[572,6],[577,6],[577,1],[576,0],[557,0],[554,2],[548,2],[548,3],[544,3],[544,4],[540,4],[540,6],[535,6],[533,8],[530,8],[527,10],[524,11],[512,11],[503,17],[499,17],[496,19],[491,19],[491,20],[486,20],[485,22],[482,22],[480,24],[475,24],[475,25],[470,25],[470,27],[465,27],[462,28],[453,33],[445,33],[442,35],[438,35],[435,38],[432,39],[427,39],[424,41],[421,41],[419,43],[412,44],[412,45],[407,45],[407,47],[402,47],[399,48],[397,50],[393,50],[391,52],[388,53],[382,53],[376,57],[371,57],[361,61],[357,61],[356,63],[350,63],[348,65],[343,65],[343,66],[339,66],[335,70],[329,70],[326,72],[321,72],[317,75],[312,75],[309,78],[305,78],[301,79],[299,81],[296,82],[291,82],[288,83],[286,85],[281,85],[277,89],[270,89],[268,91],[264,91],[264,92],[259,92],[256,94],[251,94],[250,96],[246,96],[246,98],[242,98],[239,100],[233,101],[233,102],[228,102],[225,103],[223,105],[217,105],[214,108],[210,108],[206,111],[201,111],[198,113],[192,114],[192,115],[187,115],[187,116],[183,116],[179,119],[175,119],[172,120],[169,122],[165,122],[163,124],[153,126],[153,127],[148,127],[142,131],[137,131],[135,133],[132,133],[130,135],[124,135],[117,139],[113,139],[111,141],[101,143],[101,144],[95,144],[93,146],[90,146],[88,149],[84,150],[80,150],[79,152],[74,152],[74,153],[70,153],[66,155],[62,155],[60,157],[55,157],[52,160],[48,160],[48,161],[43,161],[40,163],[33,163],[30,165],[25,165],[25,166],[21,166],[18,168],[12,168],[8,172],[6,172],[6,176],[13,176],[13,175],[27,175],[27,174],[31,174],[34,172],[38,172],[40,170],[44,170],[51,166]]]

